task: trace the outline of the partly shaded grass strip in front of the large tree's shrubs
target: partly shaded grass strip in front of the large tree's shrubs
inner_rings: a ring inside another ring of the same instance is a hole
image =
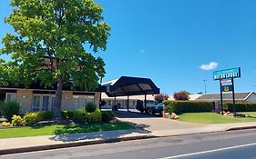
[[[110,130],[125,130],[133,128],[134,127],[131,124],[124,122],[117,122],[116,124],[57,124],[46,126],[4,128],[0,129],[0,138],[14,138],[55,134],[76,134]]]

